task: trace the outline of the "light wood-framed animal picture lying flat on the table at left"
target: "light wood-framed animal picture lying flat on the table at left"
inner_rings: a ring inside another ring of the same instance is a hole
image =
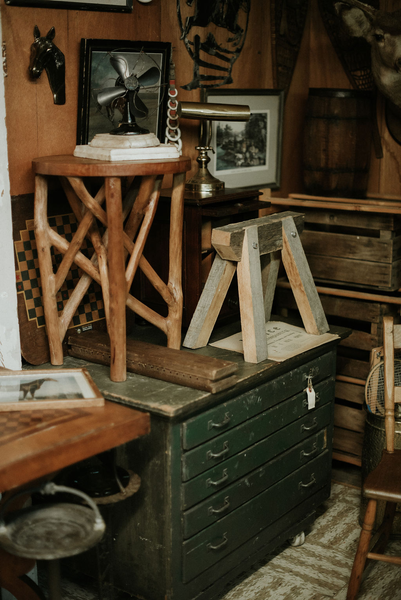
[[[0,371],[0,412],[104,406],[86,369]]]

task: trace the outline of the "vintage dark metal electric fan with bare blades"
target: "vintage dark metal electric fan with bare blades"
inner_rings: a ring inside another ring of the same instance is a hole
[[[103,88],[96,99],[100,106],[109,106],[117,98],[125,99],[124,114],[121,123],[110,133],[113,135],[138,135],[149,133],[148,129],[140,127],[136,119],[146,117],[148,107],[139,97],[141,90],[155,86],[160,79],[160,69],[147,54],[141,53],[132,71],[128,62],[121,54],[111,54],[110,63],[118,77],[114,87]]]

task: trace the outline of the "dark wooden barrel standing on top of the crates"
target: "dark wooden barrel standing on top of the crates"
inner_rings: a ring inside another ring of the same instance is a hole
[[[372,108],[370,92],[309,90],[303,144],[307,193],[345,198],[366,196]]]

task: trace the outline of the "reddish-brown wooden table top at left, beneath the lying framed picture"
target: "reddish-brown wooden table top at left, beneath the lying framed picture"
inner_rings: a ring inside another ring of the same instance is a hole
[[[0,413],[0,492],[120,446],[150,431],[147,412],[97,408]]]

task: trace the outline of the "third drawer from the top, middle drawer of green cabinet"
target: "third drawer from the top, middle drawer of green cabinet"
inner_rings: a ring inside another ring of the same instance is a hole
[[[326,404],[322,408],[318,408],[314,414],[318,420],[316,431],[320,428],[325,431],[332,419],[332,405]],[[305,434],[305,430],[302,429],[302,424],[305,421],[308,421],[308,417],[304,417],[300,422],[291,423],[285,429],[276,431],[276,433],[229,458],[223,464],[184,483],[182,485],[183,510],[212,496],[217,491],[225,490],[243,475],[272,460],[301,440],[305,438],[309,440],[310,438]],[[327,445],[326,439],[325,445]]]

